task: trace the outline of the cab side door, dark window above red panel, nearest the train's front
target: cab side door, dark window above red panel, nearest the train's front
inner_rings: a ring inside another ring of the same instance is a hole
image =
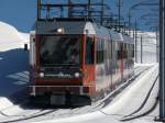
[[[96,62],[95,62],[95,37],[94,36],[87,36],[85,42],[85,78],[84,78],[84,86],[89,86],[89,93],[94,93],[96,90]]]

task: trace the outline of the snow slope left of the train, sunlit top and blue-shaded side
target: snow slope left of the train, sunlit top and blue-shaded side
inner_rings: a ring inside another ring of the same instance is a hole
[[[0,22],[0,109],[12,105],[8,97],[29,81],[29,55],[23,51],[24,43],[29,43],[29,34]]]

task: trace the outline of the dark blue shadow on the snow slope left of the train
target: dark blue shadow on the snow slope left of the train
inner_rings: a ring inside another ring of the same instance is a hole
[[[12,97],[29,83],[29,53],[23,48],[0,53],[0,97]],[[9,98],[10,99],[10,98]]]

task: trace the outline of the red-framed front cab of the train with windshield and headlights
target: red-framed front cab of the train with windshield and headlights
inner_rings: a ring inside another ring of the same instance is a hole
[[[88,30],[91,23],[40,21],[36,26],[31,34],[31,96],[95,93],[96,44],[94,30]]]

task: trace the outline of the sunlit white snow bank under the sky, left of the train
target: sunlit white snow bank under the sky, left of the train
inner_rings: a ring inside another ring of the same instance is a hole
[[[0,22],[0,52],[22,48],[25,43],[29,44],[30,35],[19,32],[14,26]]]

